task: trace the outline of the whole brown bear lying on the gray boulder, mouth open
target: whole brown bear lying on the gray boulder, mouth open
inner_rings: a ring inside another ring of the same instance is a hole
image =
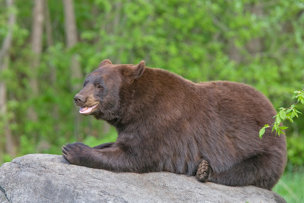
[[[286,165],[285,135],[261,92],[237,82],[198,84],[158,68],[104,60],[74,97],[83,115],[116,128],[116,142],[66,144],[71,164],[114,172],[168,171],[228,186],[271,190]]]

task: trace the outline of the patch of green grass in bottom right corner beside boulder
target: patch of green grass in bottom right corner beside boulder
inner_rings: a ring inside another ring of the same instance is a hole
[[[304,171],[285,171],[272,190],[281,195],[287,203],[304,203]]]

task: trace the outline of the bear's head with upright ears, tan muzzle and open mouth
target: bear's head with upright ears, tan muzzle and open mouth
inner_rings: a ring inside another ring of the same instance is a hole
[[[111,121],[119,116],[122,102],[130,96],[135,80],[143,75],[145,62],[138,65],[113,65],[103,60],[97,70],[90,73],[83,88],[74,97],[79,113],[94,115],[96,119]]]

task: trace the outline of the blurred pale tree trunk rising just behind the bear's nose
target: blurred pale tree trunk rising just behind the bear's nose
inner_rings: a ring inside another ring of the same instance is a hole
[[[73,47],[77,41],[77,26],[74,14],[74,4],[73,0],[63,0],[64,3],[64,23],[65,23],[65,37],[67,48]],[[76,56],[73,55],[71,58],[71,85],[72,93],[76,94],[81,89],[82,73],[79,61],[76,60]],[[73,96],[71,96],[73,97]],[[73,98],[71,98],[73,99]],[[82,117],[78,113],[79,108],[74,107],[74,137],[78,141],[83,139],[83,129],[82,129]]]

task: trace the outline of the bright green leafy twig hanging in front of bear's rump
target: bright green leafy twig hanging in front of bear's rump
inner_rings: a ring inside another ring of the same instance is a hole
[[[260,133],[259,133],[259,137],[262,139],[262,136],[264,135],[265,133],[265,129],[266,128],[270,128],[272,127],[272,131],[275,131],[275,135],[281,135],[281,134],[284,134],[285,133],[282,131],[282,130],[285,130],[287,129],[288,127],[286,126],[279,126],[281,124],[282,121],[285,121],[286,119],[288,119],[290,122],[293,123],[293,118],[294,117],[297,117],[299,118],[298,116],[298,113],[299,114],[302,114],[300,111],[296,110],[296,104],[301,102],[302,104],[304,104],[304,89],[302,90],[298,90],[298,91],[294,91],[293,92],[293,96],[292,96],[292,99],[293,98],[296,98],[297,101],[295,101],[295,103],[293,103],[289,108],[285,109],[283,107],[279,108],[279,112],[277,113],[277,115],[275,115],[274,117],[272,118],[275,118],[275,122],[272,124],[272,125],[269,125],[269,124],[265,124],[264,127],[260,130]]]

